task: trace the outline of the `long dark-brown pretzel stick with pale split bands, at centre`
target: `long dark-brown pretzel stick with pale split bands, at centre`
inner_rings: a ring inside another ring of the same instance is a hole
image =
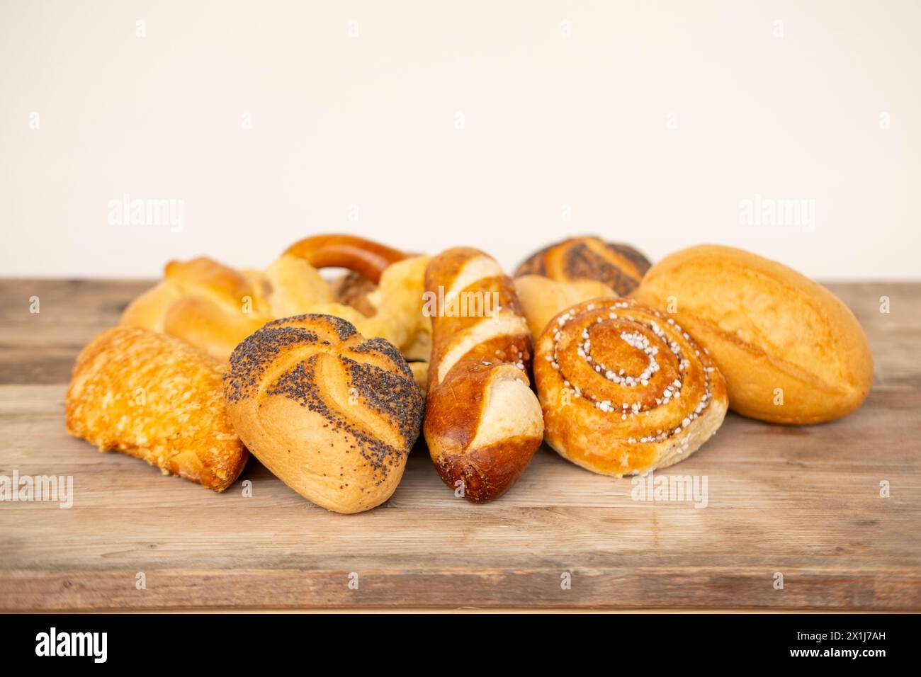
[[[482,251],[432,259],[426,296],[436,300],[427,309],[426,442],[445,484],[481,503],[504,494],[541,445],[541,406],[527,373],[530,331],[511,278]]]

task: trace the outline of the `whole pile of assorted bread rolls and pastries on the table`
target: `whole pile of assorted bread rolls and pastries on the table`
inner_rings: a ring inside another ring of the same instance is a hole
[[[699,449],[728,407],[829,421],[872,379],[840,300],[729,247],[650,267],[572,238],[513,280],[476,249],[324,235],[263,269],[199,257],[165,273],[77,358],[68,432],[217,491],[249,449],[342,513],[393,495],[420,430],[445,484],[482,503],[542,441],[595,473],[647,473]]]

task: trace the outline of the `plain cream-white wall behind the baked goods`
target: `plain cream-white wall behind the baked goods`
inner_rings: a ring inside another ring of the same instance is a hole
[[[919,83],[917,2],[0,0],[0,274],[262,266],[344,231],[917,278]],[[124,193],[184,201],[184,230],[111,226]],[[741,225],[756,194],[814,200],[814,232]]]

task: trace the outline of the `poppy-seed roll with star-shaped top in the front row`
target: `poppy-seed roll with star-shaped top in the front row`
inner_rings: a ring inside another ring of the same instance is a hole
[[[252,454],[335,512],[390,498],[422,426],[422,393],[400,352],[332,315],[253,333],[230,356],[224,397]]]

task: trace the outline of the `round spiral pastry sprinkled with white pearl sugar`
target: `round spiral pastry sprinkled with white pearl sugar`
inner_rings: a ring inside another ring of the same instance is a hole
[[[690,456],[722,424],[726,382],[674,321],[630,299],[559,313],[534,360],[544,441],[569,461],[621,477]]]

